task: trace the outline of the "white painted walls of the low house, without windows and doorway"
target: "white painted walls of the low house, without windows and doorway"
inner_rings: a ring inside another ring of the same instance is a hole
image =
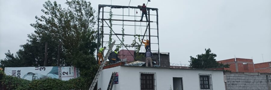
[[[199,73],[211,74],[213,90],[225,90],[223,71],[219,70],[185,70],[155,67],[118,66],[102,71],[98,87],[107,88],[111,73],[119,72],[119,84],[114,84],[113,90],[140,90],[140,72],[156,73],[156,90],[173,89],[173,77],[182,77],[183,90],[200,90]],[[110,74],[110,75],[109,75]],[[101,82],[102,81],[102,82]]]

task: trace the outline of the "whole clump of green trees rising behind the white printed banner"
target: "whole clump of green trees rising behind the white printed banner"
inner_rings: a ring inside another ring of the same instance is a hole
[[[29,40],[13,56],[8,52],[1,61],[1,67],[12,61],[20,61],[20,66],[43,66],[45,42],[48,42],[48,66],[57,65],[58,44],[61,44],[61,66],[75,66],[81,76],[95,76],[96,19],[91,3],[84,0],[67,1],[62,8],[56,1],[43,4],[44,13],[36,16],[36,23],[30,24],[36,30],[28,35]]]

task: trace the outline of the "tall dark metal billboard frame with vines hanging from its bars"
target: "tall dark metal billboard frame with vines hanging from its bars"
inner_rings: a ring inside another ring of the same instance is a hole
[[[130,9],[133,9],[134,12],[128,12]],[[145,17],[143,21],[140,20],[141,14],[138,14],[140,9],[147,9],[148,20],[145,20]],[[149,50],[153,53],[160,53],[158,9],[99,4],[97,35],[97,52],[99,48],[110,46],[111,42],[115,40],[116,47],[113,49],[120,50],[122,48],[122,51],[128,51],[126,55],[131,55],[133,60],[136,61],[144,57],[142,53],[146,51],[142,40],[149,40]],[[120,55],[124,55],[123,52]],[[158,57],[154,57],[154,59],[158,62],[157,66],[160,66],[160,54],[158,54]]]

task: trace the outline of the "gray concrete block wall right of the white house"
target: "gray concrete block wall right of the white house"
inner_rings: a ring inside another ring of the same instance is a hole
[[[270,90],[271,73],[224,72],[224,74],[227,81],[226,90]]]

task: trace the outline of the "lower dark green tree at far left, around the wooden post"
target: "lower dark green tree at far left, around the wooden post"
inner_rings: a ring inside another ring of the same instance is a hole
[[[52,41],[48,35],[44,35],[40,38],[35,34],[28,35],[29,40],[24,45],[20,45],[22,49],[17,51],[14,56],[9,51],[5,53],[6,58],[0,61],[0,67],[35,67],[43,66],[44,64],[44,51],[45,51],[45,41],[48,42],[48,66],[57,66],[57,49],[58,43]],[[63,52],[61,52],[61,57],[64,57]],[[61,58],[61,65],[64,65],[64,58]],[[20,61],[20,63],[13,63],[14,61]],[[67,65],[67,63],[65,63]]]

